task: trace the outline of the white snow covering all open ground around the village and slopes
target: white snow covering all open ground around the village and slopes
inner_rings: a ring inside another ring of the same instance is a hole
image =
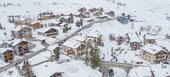
[[[11,6],[6,6],[6,4],[11,3]],[[5,5],[4,5],[5,4]],[[116,19],[94,24],[92,27],[82,30],[79,34],[82,36],[86,35],[102,35],[102,41],[104,43],[103,47],[100,47],[100,57],[103,61],[116,61],[120,63],[130,63],[136,64],[137,62],[142,62],[143,65],[147,67],[134,67],[130,70],[128,77],[151,77],[154,74],[155,77],[169,77],[170,76],[170,64],[151,64],[148,61],[140,57],[140,51],[133,51],[130,49],[130,45],[123,43],[117,45],[116,41],[111,41],[109,35],[114,36],[125,36],[127,33],[135,33],[141,30],[141,27],[147,28],[151,26],[150,31],[143,31],[141,36],[139,36],[140,41],[143,40],[143,36],[146,33],[154,33],[157,28],[160,27],[159,43],[160,45],[169,48],[170,39],[165,39],[166,34],[170,34],[170,1],[169,0],[0,0],[0,23],[4,30],[0,30],[0,40],[8,41],[11,39],[11,30],[16,27],[16,25],[8,22],[8,16],[10,15],[21,15],[21,17],[31,17],[36,21],[36,17],[39,13],[44,11],[53,11],[55,14],[78,14],[78,9],[85,7],[90,8],[100,8],[103,7],[105,12],[114,11],[115,16],[120,16],[122,13],[130,14],[134,22],[129,22],[128,24],[121,24]],[[92,17],[95,18],[95,17]],[[75,18],[75,21],[79,18]],[[86,20],[86,19],[84,19]],[[54,22],[55,20],[42,21],[45,24]],[[87,22],[84,25],[88,24]],[[39,30],[32,31],[33,37],[39,40],[46,40],[49,44],[54,44],[58,40],[61,40],[78,29],[75,23],[70,24],[72,29],[68,33],[62,32],[62,27],[59,28],[59,35],[56,38],[50,38],[38,35]],[[40,29],[42,30],[42,29]],[[6,33],[6,35],[4,35]],[[164,39],[164,43],[161,40]],[[11,41],[10,41],[11,42]],[[40,42],[34,42],[37,47],[33,48],[32,51],[36,52],[45,48]],[[114,51],[114,56],[116,60],[112,57],[111,49],[119,49]],[[121,50],[122,49],[122,50]],[[169,50],[170,51],[170,50]],[[1,52],[1,50],[0,50]],[[51,57],[52,52],[44,51],[40,54],[28,59],[31,65],[35,65],[40,62],[48,61]],[[24,56],[22,56],[24,57]],[[16,56],[14,60],[20,59],[22,57]],[[98,69],[92,69],[90,66],[86,65],[84,61],[74,60],[73,58],[61,54],[59,60],[69,60],[69,62],[63,62],[58,64],[58,62],[44,62],[42,64],[35,65],[32,67],[32,71],[37,77],[50,77],[56,72],[64,72],[63,77],[103,77],[102,73]],[[170,62],[169,62],[170,63]],[[9,63],[5,63],[0,59],[0,67],[3,67]],[[22,66],[22,63],[19,65]],[[165,66],[165,67],[163,67]],[[1,69],[1,68],[0,68]],[[120,68],[112,67],[110,69],[114,70],[114,77],[127,77],[127,73]],[[9,75],[9,71],[13,71],[12,75]],[[12,67],[2,73],[0,77],[21,77],[18,70]]]

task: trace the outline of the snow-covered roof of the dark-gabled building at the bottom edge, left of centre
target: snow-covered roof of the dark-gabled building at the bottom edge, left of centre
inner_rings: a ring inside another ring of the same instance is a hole
[[[50,77],[56,72],[63,72],[64,67],[54,62],[45,62],[38,66],[33,67],[33,72],[37,77]]]

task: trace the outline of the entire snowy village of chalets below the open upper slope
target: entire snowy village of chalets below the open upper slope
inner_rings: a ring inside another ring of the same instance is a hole
[[[12,6],[22,4],[0,4]],[[0,21],[0,77],[170,77],[170,33],[161,25],[103,7],[30,12]]]

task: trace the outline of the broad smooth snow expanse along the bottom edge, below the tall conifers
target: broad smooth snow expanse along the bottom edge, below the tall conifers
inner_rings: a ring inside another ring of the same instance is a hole
[[[37,77],[49,77],[56,72],[64,72],[63,77],[102,77],[99,71],[92,70],[83,61],[74,60],[63,64],[46,62],[33,67],[33,72]]]

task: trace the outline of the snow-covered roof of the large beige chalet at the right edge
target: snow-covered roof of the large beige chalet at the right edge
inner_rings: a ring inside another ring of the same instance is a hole
[[[162,47],[158,46],[158,45],[153,45],[153,44],[147,44],[144,47],[141,48],[142,50],[149,52],[151,54],[156,54],[158,52],[160,52],[162,49]]]

